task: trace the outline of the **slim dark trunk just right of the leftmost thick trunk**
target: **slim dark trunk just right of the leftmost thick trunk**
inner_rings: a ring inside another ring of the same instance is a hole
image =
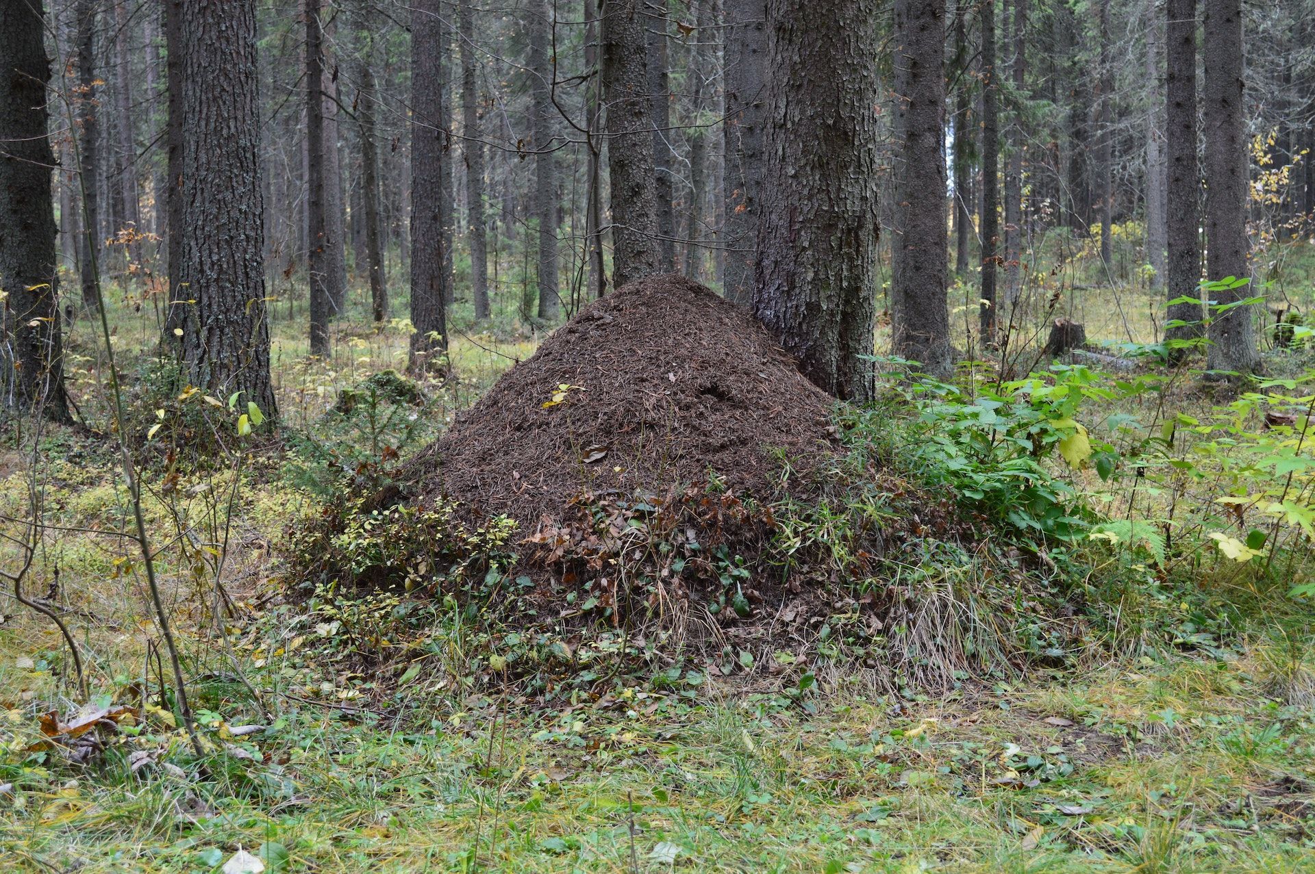
[[[178,1],[178,0],[175,0]],[[96,1],[78,0],[78,127],[82,158],[83,234],[78,273],[83,305],[100,305],[96,292],[96,264],[100,262],[100,118],[96,76]]]

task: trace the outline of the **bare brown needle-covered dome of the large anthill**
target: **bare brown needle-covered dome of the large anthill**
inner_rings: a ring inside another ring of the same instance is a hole
[[[681,276],[586,306],[408,465],[421,497],[522,536],[581,495],[663,497],[711,481],[768,498],[828,451],[834,400],[742,308]]]

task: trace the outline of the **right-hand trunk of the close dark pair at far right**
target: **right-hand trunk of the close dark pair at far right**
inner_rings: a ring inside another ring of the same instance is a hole
[[[1206,241],[1211,280],[1251,277],[1247,242],[1247,138],[1243,116],[1241,0],[1206,0],[1203,92]],[[1211,293],[1218,304],[1251,297],[1248,287]],[[1252,308],[1235,306],[1210,322],[1211,371],[1252,373],[1260,364]]]

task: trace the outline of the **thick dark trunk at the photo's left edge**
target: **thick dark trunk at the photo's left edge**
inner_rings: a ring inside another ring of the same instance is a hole
[[[45,4],[0,4],[0,364],[4,403],[70,421],[59,329],[55,202],[50,188]]]

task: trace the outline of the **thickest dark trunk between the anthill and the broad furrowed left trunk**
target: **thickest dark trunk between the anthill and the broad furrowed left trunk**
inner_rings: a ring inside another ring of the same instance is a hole
[[[446,170],[443,99],[444,28],[442,0],[417,0],[412,7],[412,217],[410,258],[412,301],[408,369],[433,372],[443,365],[447,348],[447,321],[443,306],[448,298],[443,269],[444,237],[442,198],[435,196]]]

